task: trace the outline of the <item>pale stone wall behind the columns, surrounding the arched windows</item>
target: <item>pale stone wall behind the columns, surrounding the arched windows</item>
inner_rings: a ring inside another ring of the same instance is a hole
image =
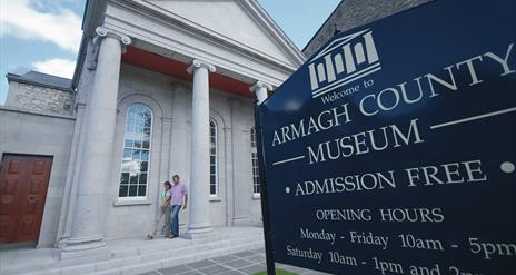
[[[249,96],[252,96],[249,92]],[[122,63],[118,114],[109,167],[105,237],[141,237],[152,230],[159,213],[159,193],[165,180],[179,174],[190,190],[191,84]],[[153,115],[150,169],[146,200],[118,197],[127,109],[143,104]],[[260,200],[252,196],[250,129],[254,126],[252,99],[210,89],[210,117],[217,127],[218,196],[209,198],[214,227],[259,224]],[[206,188],[209,188],[206,183]],[[179,216],[180,232],[188,225],[187,210]]]

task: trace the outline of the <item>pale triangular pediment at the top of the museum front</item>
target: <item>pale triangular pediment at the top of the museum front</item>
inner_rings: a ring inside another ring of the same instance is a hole
[[[252,0],[143,0],[192,26],[208,30],[246,48],[280,60],[292,68],[304,56]]]

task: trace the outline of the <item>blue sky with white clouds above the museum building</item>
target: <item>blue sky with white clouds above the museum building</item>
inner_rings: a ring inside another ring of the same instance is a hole
[[[340,0],[259,0],[302,49]],[[71,78],[86,0],[0,0],[0,105],[8,71],[23,67]]]

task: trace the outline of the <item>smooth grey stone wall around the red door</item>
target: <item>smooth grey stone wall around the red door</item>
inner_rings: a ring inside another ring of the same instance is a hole
[[[0,107],[0,159],[4,154],[53,158],[38,247],[56,243],[75,122],[72,116]]]

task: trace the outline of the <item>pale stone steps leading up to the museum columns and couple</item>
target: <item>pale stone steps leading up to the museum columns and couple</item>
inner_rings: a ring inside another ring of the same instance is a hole
[[[141,274],[153,269],[178,266],[194,263],[201,259],[229,255],[232,253],[256,249],[264,247],[262,229],[259,227],[225,227],[217,228],[212,234],[205,238],[183,239],[183,238],[157,238],[147,239],[119,239],[108,242],[110,249],[109,258],[98,258],[96,256],[70,258],[59,261],[56,256],[59,251],[26,249],[18,255],[23,257],[13,261],[3,259],[0,266],[0,274],[23,274],[23,275],[130,275]],[[48,255],[48,261],[32,262],[34,253],[41,251]],[[0,252],[0,256],[4,252]],[[23,255],[26,254],[26,255]],[[6,265],[6,266],[4,266]]]

